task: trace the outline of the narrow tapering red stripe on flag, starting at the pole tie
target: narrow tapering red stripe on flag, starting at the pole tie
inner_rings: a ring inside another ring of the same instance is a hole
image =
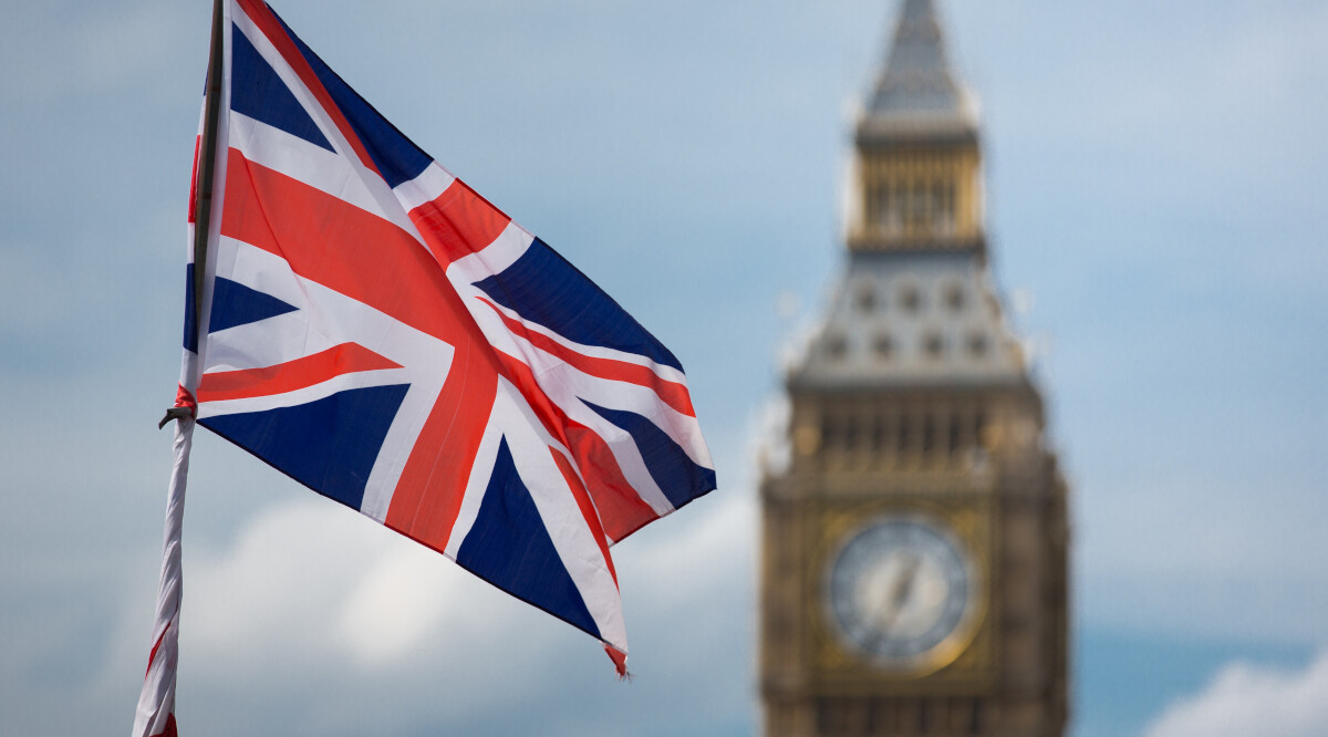
[[[205,402],[264,397],[313,386],[343,373],[393,368],[401,367],[357,343],[343,343],[275,367],[203,374],[198,397]]]

